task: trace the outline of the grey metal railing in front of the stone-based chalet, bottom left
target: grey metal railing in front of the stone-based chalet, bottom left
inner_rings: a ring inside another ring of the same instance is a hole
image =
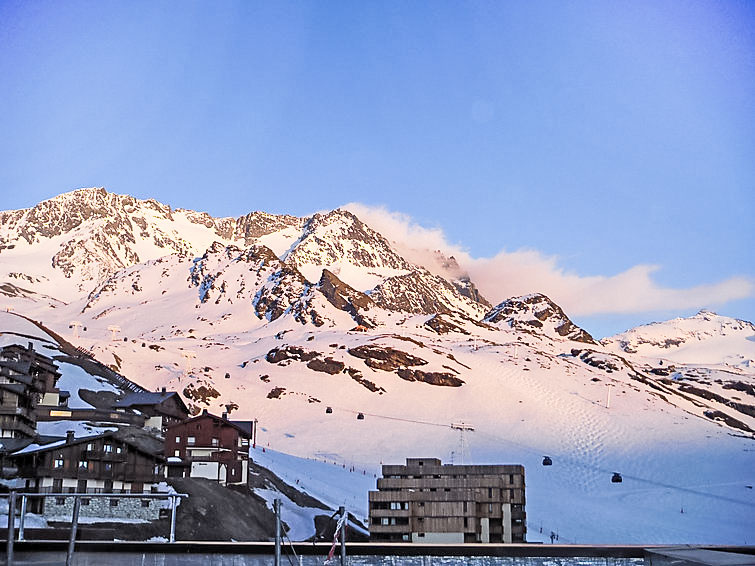
[[[26,507],[29,499],[44,499],[46,497],[72,497],[73,511],[71,514],[71,533],[68,537],[68,552],[66,566],[73,563],[73,551],[76,544],[76,532],[79,527],[79,511],[81,500],[95,497],[108,499],[169,499],[170,500],[170,537],[168,542],[176,542],[176,508],[178,499],[189,497],[188,493],[17,493],[11,490],[8,494],[8,544],[6,546],[6,564],[13,566],[13,543],[16,531],[16,504],[21,498],[21,512],[18,521],[18,540],[24,539],[26,522]]]

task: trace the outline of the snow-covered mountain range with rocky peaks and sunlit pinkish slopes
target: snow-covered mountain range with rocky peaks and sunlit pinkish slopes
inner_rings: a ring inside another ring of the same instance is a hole
[[[755,530],[749,323],[702,313],[596,342],[544,295],[491,306],[453,258],[441,277],[342,210],[215,219],[85,189],[0,220],[8,308],[194,410],[257,418],[262,446],[373,473],[523,463],[530,540]]]

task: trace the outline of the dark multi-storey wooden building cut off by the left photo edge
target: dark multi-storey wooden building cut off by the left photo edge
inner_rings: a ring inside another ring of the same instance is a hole
[[[36,409],[45,395],[56,397],[60,377],[55,362],[31,343],[0,350],[0,437],[33,438]]]

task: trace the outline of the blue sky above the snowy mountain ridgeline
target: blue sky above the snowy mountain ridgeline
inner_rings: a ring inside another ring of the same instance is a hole
[[[545,279],[657,266],[600,312],[544,280],[598,335],[755,319],[752,2],[0,1],[0,77],[2,209],[358,202]]]

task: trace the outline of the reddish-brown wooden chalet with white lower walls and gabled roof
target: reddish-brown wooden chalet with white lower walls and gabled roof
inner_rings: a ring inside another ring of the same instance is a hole
[[[165,433],[168,475],[203,477],[222,484],[247,483],[249,440],[245,427],[203,411]]]

